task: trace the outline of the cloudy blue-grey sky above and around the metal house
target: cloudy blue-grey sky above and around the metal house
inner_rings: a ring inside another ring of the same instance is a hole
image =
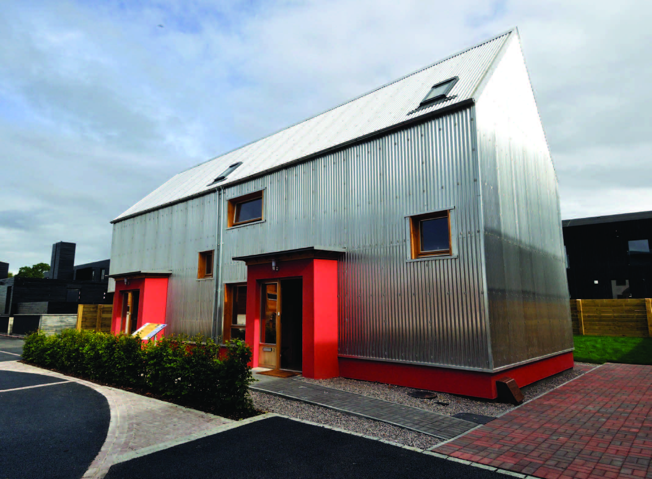
[[[3,1],[0,261],[108,258],[179,171],[519,27],[563,218],[652,210],[652,3]]]

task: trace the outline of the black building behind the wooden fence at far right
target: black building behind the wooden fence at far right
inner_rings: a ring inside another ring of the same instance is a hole
[[[571,299],[652,297],[652,212],[562,221]]]

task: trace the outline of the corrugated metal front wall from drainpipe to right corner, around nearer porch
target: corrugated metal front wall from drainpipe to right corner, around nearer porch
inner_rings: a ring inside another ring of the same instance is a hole
[[[265,222],[224,232],[223,281],[246,278],[233,256],[344,247],[340,354],[488,368],[472,116],[458,111],[226,188],[226,198],[264,188]],[[406,215],[449,207],[458,257],[408,261]]]

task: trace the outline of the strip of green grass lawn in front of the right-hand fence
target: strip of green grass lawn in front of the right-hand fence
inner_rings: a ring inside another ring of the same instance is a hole
[[[652,338],[573,336],[580,363],[652,364]]]

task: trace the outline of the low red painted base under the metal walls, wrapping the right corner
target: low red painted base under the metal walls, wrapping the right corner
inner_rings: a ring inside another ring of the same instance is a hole
[[[574,361],[570,351],[496,373],[347,357],[340,357],[339,363],[342,377],[496,399],[496,379],[503,376],[513,377],[518,387],[524,387],[572,368]]]

